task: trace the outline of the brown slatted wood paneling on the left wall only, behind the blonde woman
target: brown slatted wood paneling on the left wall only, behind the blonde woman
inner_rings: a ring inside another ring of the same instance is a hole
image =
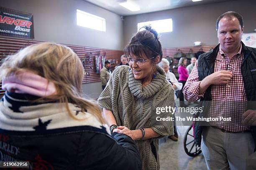
[[[4,38],[0,37],[0,59],[7,57],[8,55],[15,54],[18,50],[27,47],[28,45],[33,45],[41,41],[34,40],[23,40],[23,39],[14,39],[14,38]],[[82,83],[89,82],[100,82],[100,74],[95,72],[95,56],[99,53],[100,55],[105,55],[106,60],[113,62],[113,67],[120,62],[120,56],[123,55],[122,50],[109,50],[104,48],[96,47],[84,47],[79,45],[68,45],[74,52],[77,53],[80,60],[84,64],[88,75],[84,74],[84,79]],[[85,60],[87,56],[87,60]],[[2,60],[3,61],[3,60]],[[1,65],[1,61],[0,61]],[[103,63],[104,65],[104,63]],[[0,83],[0,94],[4,93],[4,90],[1,89],[2,84]]]

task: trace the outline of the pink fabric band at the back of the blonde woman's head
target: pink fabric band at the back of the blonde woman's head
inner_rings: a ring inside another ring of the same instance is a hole
[[[26,93],[45,97],[56,92],[53,82],[30,71],[23,71],[17,75],[3,78],[3,90],[8,92]]]

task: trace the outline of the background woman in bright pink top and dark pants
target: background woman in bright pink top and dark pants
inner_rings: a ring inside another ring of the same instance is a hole
[[[184,94],[182,92],[184,85],[187,82],[188,78],[188,73],[187,73],[187,58],[186,57],[181,57],[179,59],[179,67],[178,67],[178,73],[179,73],[179,82],[182,83],[182,89],[180,90],[179,93],[179,105],[180,107],[187,107],[187,105],[184,104]]]

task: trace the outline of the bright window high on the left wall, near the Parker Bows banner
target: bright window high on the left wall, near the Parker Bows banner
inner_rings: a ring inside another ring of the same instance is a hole
[[[106,20],[104,18],[77,10],[77,25],[99,31],[106,31]]]

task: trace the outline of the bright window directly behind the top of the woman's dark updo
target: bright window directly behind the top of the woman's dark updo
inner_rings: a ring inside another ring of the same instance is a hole
[[[138,23],[138,31],[144,25],[151,25],[157,32],[172,32],[172,19],[155,20],[143,23]],[[140,31],[142,31],[141,29]]]

